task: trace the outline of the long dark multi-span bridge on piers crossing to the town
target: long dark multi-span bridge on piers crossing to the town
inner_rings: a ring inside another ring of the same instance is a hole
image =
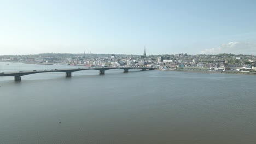
[[[128,73],[129,69],[142,69],[144,70],[154,70],[154,68],[146,68],[146,67],[104,67],[104,68],[77,68],[77,69],[53,69],[53,70],[32,70],[32,71],[20,71],[20,72],[10,72],[10,73],[0,73],[0,76],[14,76],[15,81],[21,81],[21,76],[31,75],[37,73],[53,73],[53,72],[63,72],[66,73],[66,77],[72,76],[72,73],[80,70],[99,70],[100,74],[105,74],[105,70],[109,69],[123,69],[124,73]]]

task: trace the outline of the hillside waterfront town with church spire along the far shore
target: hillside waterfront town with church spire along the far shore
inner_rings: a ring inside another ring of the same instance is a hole
[[[256,56],[221,53],[218,55],[115,55],[95,53],[41,53],[38,55],[0,56],[0,62],[63,64],[86,67],[150,67],[159,70],[255,73]]]

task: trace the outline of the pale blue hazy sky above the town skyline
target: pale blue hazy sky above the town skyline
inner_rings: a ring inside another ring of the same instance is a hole
[[[0,55],[256,55],[256,1],[0,1]]]

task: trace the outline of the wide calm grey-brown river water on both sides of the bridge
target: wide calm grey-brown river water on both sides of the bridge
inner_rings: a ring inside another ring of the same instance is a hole
[[[159,70],[0,77],[0,143],[256,143],[255,84],[255,75]]]

